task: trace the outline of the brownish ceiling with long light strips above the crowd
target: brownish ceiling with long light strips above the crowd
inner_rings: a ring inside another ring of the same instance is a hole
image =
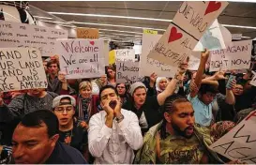
[[[143,28],[153,28],[162,34],[181,4],[182,1],[29,2],[30,12],[40,21],[98,28],[101,37],[117,40],[140,39]],[[218,23],[226,25],[233,34],[256,37],[256,3],[229,2]]]

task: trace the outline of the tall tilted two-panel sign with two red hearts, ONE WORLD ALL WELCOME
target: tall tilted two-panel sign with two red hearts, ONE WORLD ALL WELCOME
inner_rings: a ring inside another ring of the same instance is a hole
[[[148,57],[178,67],[227,5],[216,1],[184,2]]]

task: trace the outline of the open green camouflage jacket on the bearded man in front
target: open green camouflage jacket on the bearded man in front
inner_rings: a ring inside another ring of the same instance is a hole
[[[143,137],[143,147],[137,152],[134,159],[135,164],[156,164],[157,158],[157,132],[161,127],[162,122],[158,125],[150,128]],[[210,130],[208,128],[203,128],[200,126],[195,126],[195,135],[199,142],[206,148],[206,154],[209,158],[209,163],[223,163],[223,161],[218,158],[218,155],[209,149],[209,145],[212,144],[210,137]]]

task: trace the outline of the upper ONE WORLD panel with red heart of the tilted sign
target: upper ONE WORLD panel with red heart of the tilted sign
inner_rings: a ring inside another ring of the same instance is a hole
[[[225,1],[185,1],[174,16],[173,23],[199,40],[228,4]]]

